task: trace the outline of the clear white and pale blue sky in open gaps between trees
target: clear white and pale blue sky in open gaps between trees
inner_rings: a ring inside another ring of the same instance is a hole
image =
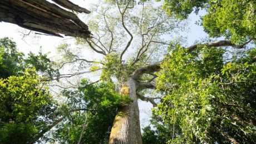
[[[97,0],[72,0],[72,2],[90,11],[90,4],[97,3]],[[204,14],[204,12],[199,12],[199,16],[202,14]],[[188,45],[193,44],[195,40],[200,40],[207,36],[207,34],[203,31],[203,27],[195,24],[195,22],[199,20],[199,16],[196,16],[195,14],[190,14],[190,23],[188,25],[188,27],[190,27],[190,30],[188,33],[184,33],[183,35],[184,37],[187,37]],[[0,38],[12,38],[13,41],[16,42],[19,51],[25,54],[29,52],[37,53],[41,48],[42,53],[50,52],[50,56],[54,57],[56,56],[55,48],[58,45],[60,45],[67,39],[70,43],[73,42],[73,39],[70,39],[71,37],[59,38],[37,34],[30,34],[28,37],[23,38],[22,33],[28,34],[29,31],[30,30],[23,29],[15,24],[0,22]],[[147,102],[139,101],[139,107],[141,127],[145,127],[149,124],[152,105]]]

